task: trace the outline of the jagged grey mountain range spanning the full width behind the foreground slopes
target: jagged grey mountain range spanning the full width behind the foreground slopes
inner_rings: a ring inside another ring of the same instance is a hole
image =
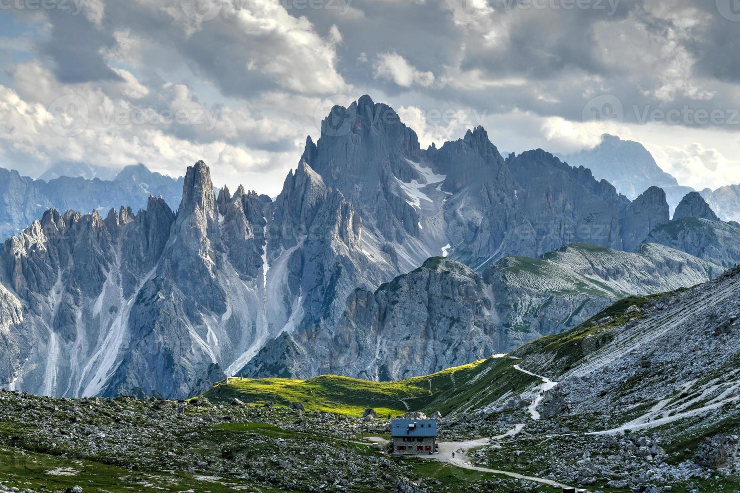
[[[143,172],[75,183],[175,181]],[[699,194],[670,220],[661,188],[630,200],[541,149],[504,158],[481,127],[421,149],[369,96],[332,109],[274,201],[217,196],[203,162],[179,183],[176,211],[175,192],[136,213],[52,209],[5,242],[0,384],[184,398],[226,374],[422,375],[740,260],[740,229]]]

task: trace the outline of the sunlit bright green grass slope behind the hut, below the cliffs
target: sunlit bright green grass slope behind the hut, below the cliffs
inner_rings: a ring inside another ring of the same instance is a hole
[[[287,378],[229,378],[206,392],[214,402],[272,402],[280,406],[300,402],[306,411],[359,416],[371,407],[379,415],[409,411],[443,415],[476,409],[512,389],[523,389],[535,378],[512,368],[510,358],[488,358],[460,367],[401,381],[378,382],[323,375],[310,380]]]

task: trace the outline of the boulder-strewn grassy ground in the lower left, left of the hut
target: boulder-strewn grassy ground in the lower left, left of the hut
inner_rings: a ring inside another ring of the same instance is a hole
[[[394,460],[386,419],[154,398],[0,392],[0,491],[528,492],[535,483]]]

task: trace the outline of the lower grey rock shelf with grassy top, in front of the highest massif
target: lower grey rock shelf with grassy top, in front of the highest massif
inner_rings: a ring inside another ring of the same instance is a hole
[[[331,338],[320,339],[311,353],[319,361],[313,374],[387,381],[440,371],[561,333],[630,294],[689,287],[722,271],[655,244],[636,254],[568,245],[542,259],[502,259],[482,275],[435,257],[374,292],[354,290]],[[286,345],[308,344],[297,336],[283,339]],[[269,361],[270,368],[279,365]],[[259,367],[244,374],[269,376]]]

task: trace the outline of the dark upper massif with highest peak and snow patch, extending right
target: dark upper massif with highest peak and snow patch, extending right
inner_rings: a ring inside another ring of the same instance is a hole
[[[571,242],[634,249],[665,220],[665,195],[651,191],[639,204],[650,208],[637,211],[588,169],[542,150],[504,160],[480,126],[423,151],[396,112],[368,96],[335,106],[303,160],[354,206],[367,247],[398,271],[440,254],[482,271]]]

